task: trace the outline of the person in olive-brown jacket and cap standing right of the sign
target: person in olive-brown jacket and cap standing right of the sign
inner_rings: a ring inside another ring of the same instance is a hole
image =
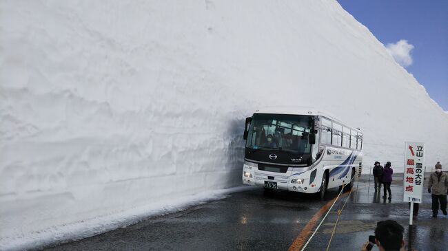
[[[432,217],[434,218],[437,217],[439,202],[443,214],[447,215],[447,189],[448,175],[447,173],[442,172],[442,165],[440,162],[437,162],[436,171],[431,173],[428,182],[428,193],[431,193],[432,190]]]

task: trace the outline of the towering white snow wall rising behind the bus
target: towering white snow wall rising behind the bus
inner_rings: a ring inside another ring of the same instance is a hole
[[[0,249],[238,186],[263,106],[363,129],[365,166],[413,140],[448,167],[447,113],[336,1],[1,1],[0,96]]]

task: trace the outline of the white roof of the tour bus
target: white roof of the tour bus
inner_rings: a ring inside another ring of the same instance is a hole
[[[344,122],[338,120],[336,117],[332,116],[327,111],[318,110],[316,108],[311,107],[263,107],[261,109],[257,109],[254,113],[273,113],[273,114],[289,114],[289,115],[308,115],[308,116],[323,116],[325,118],[329,118],[334,122],[338,122],[339,124],[343,124],[346,127],[350,127]],[[361,131],[356,127],[350,127],[355,131]]]

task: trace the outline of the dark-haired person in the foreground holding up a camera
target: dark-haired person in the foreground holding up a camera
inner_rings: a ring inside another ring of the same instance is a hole
[[[370,251],[374,245],[380,251],[405,251],[404,232],[405,228],[396,221],[379,221],[376,223],[375,235],[369,236],[369,241],[364,243],[361,251]]]

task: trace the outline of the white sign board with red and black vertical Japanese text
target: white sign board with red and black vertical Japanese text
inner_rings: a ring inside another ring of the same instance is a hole
[[[403,201],[422,203],[425,177],[425,143],[405,143],[405,171],[403,172]]]

